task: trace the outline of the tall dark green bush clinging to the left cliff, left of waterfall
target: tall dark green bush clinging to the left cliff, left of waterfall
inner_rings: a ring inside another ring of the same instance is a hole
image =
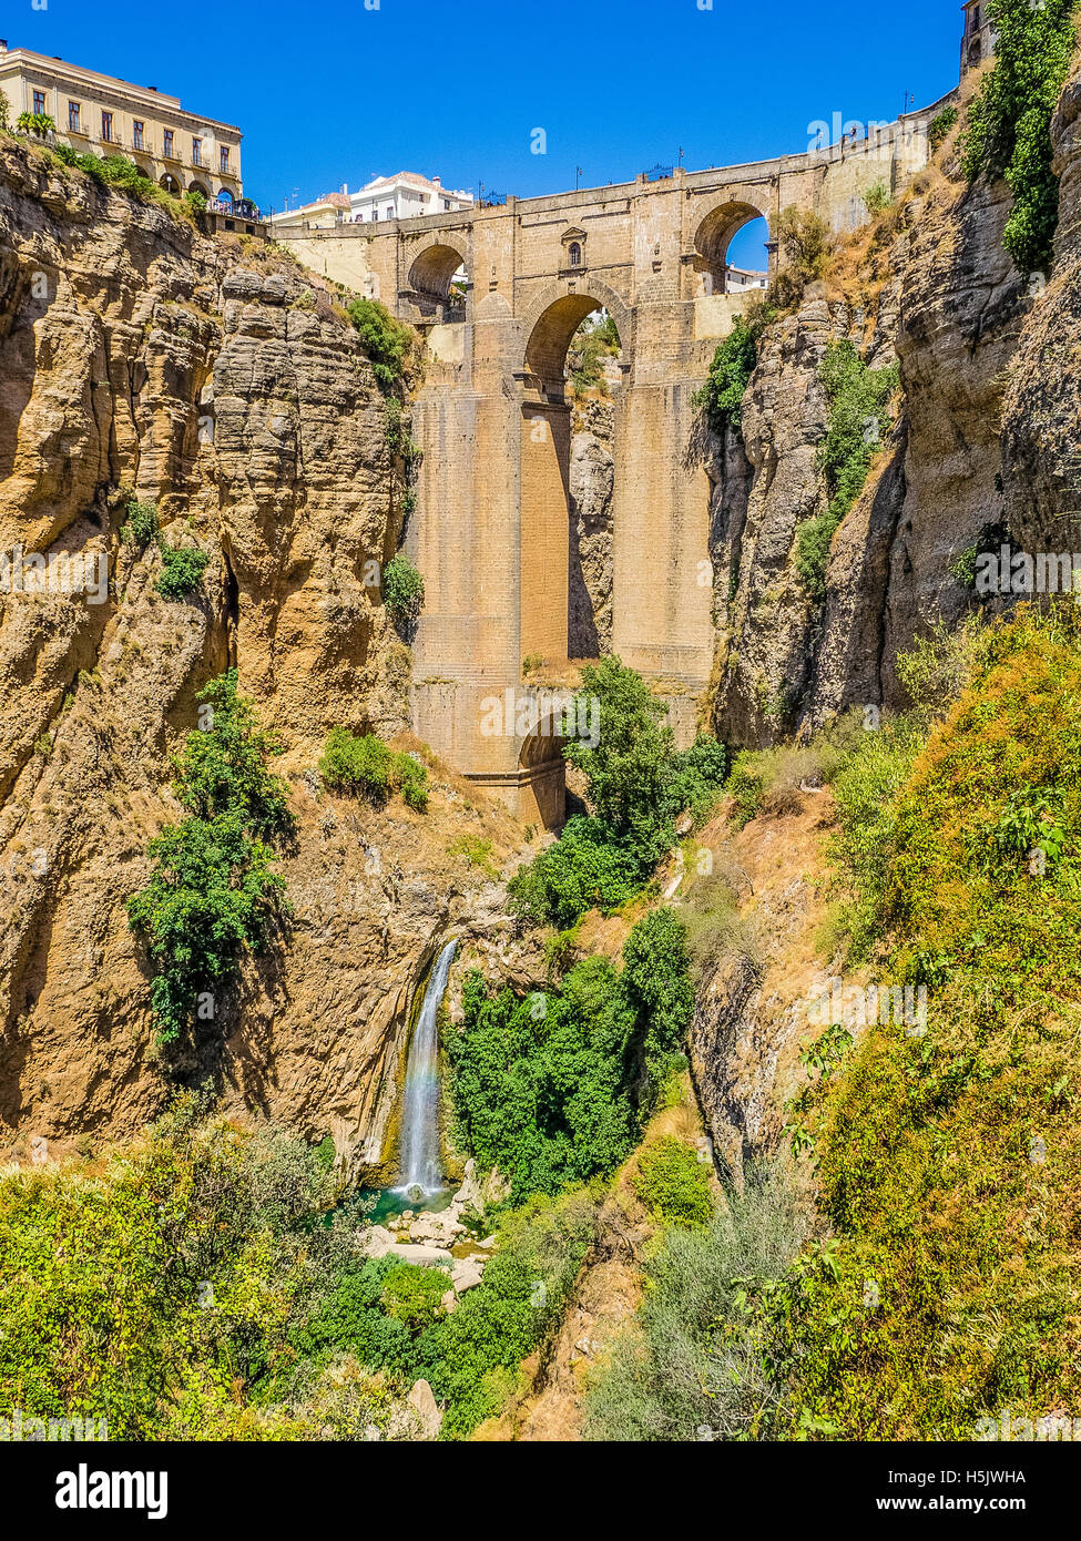
[[[268,841],[291,834],[284,783],[265,770],[279,746],[237,695],[236,670],[199,697],[204,727],[188,734],[174,792],[188,817],[151,840],[146,888],[128,900],[131,929],[154,965],[159,1039],[217,1022],[245,951],[259,951],[282,912],[284,880]]]

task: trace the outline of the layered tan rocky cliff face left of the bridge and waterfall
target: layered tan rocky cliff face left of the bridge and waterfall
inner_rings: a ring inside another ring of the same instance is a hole
[[[245,972],[244,1012],[227,1003],[242,1029],[219,1023],[185,1071],[378,1159],[413,989],[492,888],[446,848],[477,831],[498,863],[518,840],[438,767],[429,818],[313,777],[333,724],[407,721],[378,590],[399,524],[384,401],[304,270],[0,146],[0,552],[108,562],[100,603],[0,593],[0,1147],[131,1133],[168,1096],[125,901],[176,817],[196,692],[236,663],[287,744],[295,918]],[[120,538],[131,495],[210,558],[190,599],[157,595],[157,547]]]

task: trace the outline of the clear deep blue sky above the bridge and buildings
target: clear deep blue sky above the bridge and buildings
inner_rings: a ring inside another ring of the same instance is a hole
[[[891,119],[907,91],[921,106],[956,83],[959,0],[697,6],[22,0],[0,32],[239,123],[264,208],[399,170],[524,197],[574,188],[575,166],[583,186],[628,180],[680,146],[691,170],[759,160],[803,149],[811,120]]]

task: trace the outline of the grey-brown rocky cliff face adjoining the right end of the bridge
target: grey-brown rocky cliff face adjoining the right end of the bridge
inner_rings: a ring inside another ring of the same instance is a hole
[[[1066,206],[1070,197],[1064,185]],[[938,170],[918,179],[853,251],[851,271],[813,285],[765,333],[743,402],[745,459],[726,445],[714,492],[714,567],[729,581],[716,721],[729,741],[769,743],[850,706],[902,706],[896,653],[970,603],[953,567],[1004,518],[1002,399],[1038,314],[1029,277],[1002,250],[1009,206],[1002,185],[968,188]],[[814,603],[794,539],[828,501],[817,368],[840,337],[874,368],[896,358],[901,394]]]

